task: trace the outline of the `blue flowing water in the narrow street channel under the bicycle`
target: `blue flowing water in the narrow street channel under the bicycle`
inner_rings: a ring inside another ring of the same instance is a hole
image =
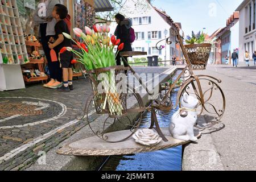
[[[177,91],[177,90],[176,90]],[[172,101],[175,102],[177,92],[172,93]],[[175,104],[175,103],[174,103]],[[168,114],[157,114],[160,127],[168,127],[172,114],[177,111],[171,110]],[[142,128],[150,127],[151,113],[143,116]],[[111,156],[102,168],[103,171],[181,171],[182,146],[168,148],[155,152],[147,152],[125,156]]]

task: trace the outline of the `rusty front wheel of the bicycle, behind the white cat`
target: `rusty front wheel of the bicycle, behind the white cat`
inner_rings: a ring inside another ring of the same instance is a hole
[[[226,100],[224,92],[215,81],[217,80],[216,78],[198,76],[198,80],[199,82],[192,77],[184,82],[179,90],[177,101],[179,101],[179,106],[181,107],[180,101],[184,93],[197,98],[197,100],[199,100],[197,115],[198,117],[204,115],[204,119],[207,123],[201,123],[199,121],[196,127],[206,129],[221,122],[221,118],[225,113]],[[221,80],[217,81],[218,83],[221,82]],[[200,89],[202,93],[200,93]]]

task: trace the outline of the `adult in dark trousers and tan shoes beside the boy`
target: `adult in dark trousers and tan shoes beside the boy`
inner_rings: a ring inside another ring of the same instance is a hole
[[[46,88],[56,89],[62,85],[62,70],[58,64],[58,61],[52,62],[51,49],[48,46],[48,42],[51,37],[55,35],[56,19],[52,17],[52,11],[57,4],[63,4],[62,0],[41,0],[36,13],[34,14],[34,22],[39,25],[39,36],[41,37],[41,43],[44,53],[46,55],[47,64],[49,68],[51,80],[44,84]]]

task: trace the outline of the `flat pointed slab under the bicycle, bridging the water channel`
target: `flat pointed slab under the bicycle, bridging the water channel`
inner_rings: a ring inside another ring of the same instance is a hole
[[[124,142],[110,143],[98,138],[97,136],[94,136],[73,142],[71,144],[67,144],[57,150],[57,154],[75,156],[128,155],[141,152],[164,150],[166,148],[176,147],[189,143],[172,138],[168,128],[162,128],[161,130],[168,139],[168,142],[164,142],[162,140],[162,142],[156,146],[142,146],[141,144],[136,143],[132,137],[125,140]],[[130,130],[123,130],[109,133],[107,136],[110,140],[117,140],[118,138],[122,138],[123,136],[128,136],[130,134]],[[199,138],[201,134],[196,130],[195,135]]]

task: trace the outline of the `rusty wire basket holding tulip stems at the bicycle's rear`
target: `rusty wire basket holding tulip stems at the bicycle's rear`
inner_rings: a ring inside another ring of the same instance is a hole
[[[115,79],[121,73],[126,75],[126,72],[127,68],[123,65],[88,72],[97,114],[109,114],[114,118],[127,115],[127,92],[123,93],[117,88],[117,84],[122,85],[121,82],[125,80]]]

